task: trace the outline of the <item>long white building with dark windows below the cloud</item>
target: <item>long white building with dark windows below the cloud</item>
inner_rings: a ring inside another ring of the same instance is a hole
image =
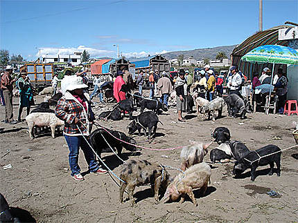
[[[82,64],[82,52],[74,52],[73,55],[42,55],[42,64],[67,63],[71,66]]]

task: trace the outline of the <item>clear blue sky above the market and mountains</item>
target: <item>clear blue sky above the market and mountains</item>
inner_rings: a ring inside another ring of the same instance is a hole
[[[252,1],[3,1],[0,45],[28,60],[86,49],[126,57],[241,43],[258,30]],[[263,0],[263,30],[298,22],[298,3]]]

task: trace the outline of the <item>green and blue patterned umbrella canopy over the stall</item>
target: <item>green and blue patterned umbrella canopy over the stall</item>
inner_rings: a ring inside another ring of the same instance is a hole
[[[247,62],[298,65],[298,52],[287,46],[264,45],[247,52],[241,60]]]

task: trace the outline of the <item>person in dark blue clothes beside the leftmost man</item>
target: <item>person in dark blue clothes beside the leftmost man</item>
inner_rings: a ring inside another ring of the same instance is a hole
[[[21,70],[19,79],[17,79],[17,88],[19,89],[19,115],[17,122],[21,122],[21,113],[23,108],[27,108],[27,115],[30,113],[31,101],[33,101],[32,86],[27,76],[26,70]]]

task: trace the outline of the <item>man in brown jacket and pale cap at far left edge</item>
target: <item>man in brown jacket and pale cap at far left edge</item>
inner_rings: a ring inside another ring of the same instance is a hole
[[[6,66],[6,70],[1,78],[1,90],[3,91],[4,101],[6,103],[5,106],[5,123],[15,124],[16,122],[13,120],[12,114],[12,89],[13,84],[17,79],[12,79],[12,66]]]

